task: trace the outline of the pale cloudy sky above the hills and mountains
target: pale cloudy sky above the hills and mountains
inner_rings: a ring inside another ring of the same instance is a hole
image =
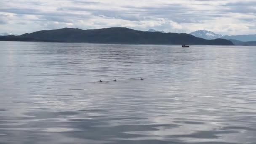
[[[0,33],[64,27],[256,34],[256,0],[0,0]]]

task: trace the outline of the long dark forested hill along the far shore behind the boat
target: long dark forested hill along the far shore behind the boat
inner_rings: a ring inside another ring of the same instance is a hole
[[[231,41],[224,39],[205,40],[189,34],[143,32],[123,27],[88,30],[73,28],[42,30],[20,36],[2,36],[0,40],[109,44],[233,45]]]

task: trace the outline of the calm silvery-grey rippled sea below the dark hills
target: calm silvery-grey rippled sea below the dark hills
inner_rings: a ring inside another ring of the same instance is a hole
[[[255,142],[255,47],[0,42],[0,144]]]

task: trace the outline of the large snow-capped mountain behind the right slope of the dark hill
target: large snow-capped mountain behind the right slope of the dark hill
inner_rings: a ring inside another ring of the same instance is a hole
[[[201,37],[206,40],[213,40],[216,38],[221,38],[223,35],[216,34],[214,32],[208,31],[208,30],[197,30],[195,32],[191,32],[190,35],[194,35],[195,37]]]

